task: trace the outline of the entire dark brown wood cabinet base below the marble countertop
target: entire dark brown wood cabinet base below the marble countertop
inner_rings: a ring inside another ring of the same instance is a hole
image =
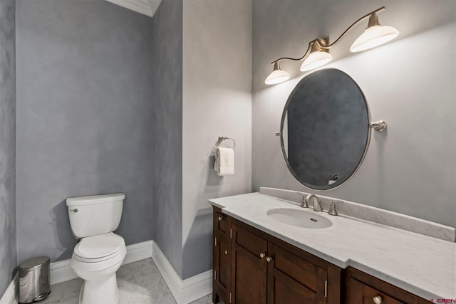
[[[212,301],[236,304],[425,304],[355,268],[339,268],[214,207]]]

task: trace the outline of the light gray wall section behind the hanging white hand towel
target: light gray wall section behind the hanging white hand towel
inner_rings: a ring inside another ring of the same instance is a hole
[[[185,1],[183,20],[185,279],[212,268],[207,200],[252,189],[252,1]],[[214,171],[212,147],[219,135],[236,140],[232,176],[219,177]]]

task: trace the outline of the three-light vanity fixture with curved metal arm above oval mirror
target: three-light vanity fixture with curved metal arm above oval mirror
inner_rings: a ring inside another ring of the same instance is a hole
[[[290,75],[285,70],[280,69],[279,61],[282,60],[291,60],[291,61],[301,61],[304,59],[301,64],[301,71],[314,70],[319,68],[326,63],[329,63],[333,56],[329,53],[329,49],[332,48],[336,43],[341,41],[341,38],[348,33],[353,27],[358,25],[361,21],[369,18],[368,26],[366,30],[359,36],[355,42],[351,45],[351,52],[359,52],[368,50],[369,48],[374,48],[375,46],[380,46],[383,43],[386,43],[399,35],[399,31],[392,26],[381,26],[378,22],[377,13],[380,11],[385,11],[386,7],[382,6],[380,9],[371,11],[371,13],[362,16],[360,19],[355,21],[351,26],[349,26],[346,31],[342,33],[339,38],[336,39],[333,43],[329,43],[329,39],[316,38],[315,40],[309,42],[306,53],[301,58],[289,58],[282,57],[274,63],[274,70],[269,74],[264,83],[266,85],[275,85],[277,83],[283,83],[286,80],[289,80]]]

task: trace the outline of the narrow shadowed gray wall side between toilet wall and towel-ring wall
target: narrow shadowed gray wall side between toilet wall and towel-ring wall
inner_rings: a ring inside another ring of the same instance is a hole
[[[162,1],[152,22],[154,241],[182,277],[182,1]]]

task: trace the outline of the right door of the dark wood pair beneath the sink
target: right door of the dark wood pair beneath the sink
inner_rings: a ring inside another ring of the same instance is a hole
[[[268,270],[268,304],[326,303],[326,270],[284,248],[276,245],[272,248],[274,259]]]

